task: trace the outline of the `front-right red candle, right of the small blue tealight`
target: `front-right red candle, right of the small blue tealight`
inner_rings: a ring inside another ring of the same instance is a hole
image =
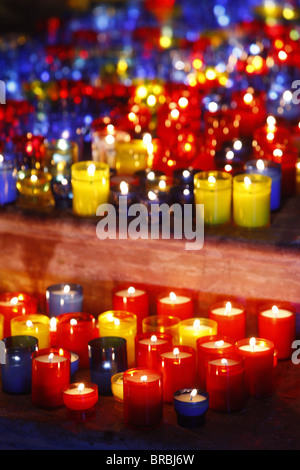
[[[239,356],[208,359],[206,390],[211,409],[226,413],[242,410],[246,403],[243,359]]]

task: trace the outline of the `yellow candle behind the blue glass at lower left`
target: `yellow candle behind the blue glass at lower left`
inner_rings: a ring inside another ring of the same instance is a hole
[[[12,318],[11,336],[33,336],[38,340],[39,349],[50,347],[50,318],[46,315],[25,314]]]

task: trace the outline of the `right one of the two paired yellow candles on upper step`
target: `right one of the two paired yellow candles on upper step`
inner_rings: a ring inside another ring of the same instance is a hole
[[[270,223],[269,176],[241,174],[233,178],[233,221],[239,227],[266,227]]]

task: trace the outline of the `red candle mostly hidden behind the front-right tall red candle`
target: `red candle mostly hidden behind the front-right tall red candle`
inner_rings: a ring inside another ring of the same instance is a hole
[[[208,359],[216,359],[233,354],[235,341],[221,335],[203,336],[197,339],[197,373],[198,384],[206,390],[206,363]]]

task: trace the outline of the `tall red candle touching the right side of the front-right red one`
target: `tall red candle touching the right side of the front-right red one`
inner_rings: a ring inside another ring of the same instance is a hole
[[[236,353],[244,358],[246,394],[266,398],[274,393],[274,343],[262,338],[236,342]]]

